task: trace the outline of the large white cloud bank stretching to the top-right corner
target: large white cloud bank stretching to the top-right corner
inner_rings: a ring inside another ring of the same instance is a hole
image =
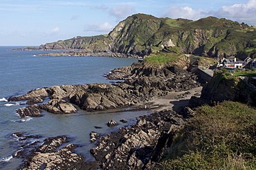
[[[172,6],[165,10],[161,17],[170,17],[172,19],[185,18],[197,20],[203,17],[219,17],[256,25],[256,0],[249,0],[246,3],[237,3],[233,6],[223,6],[217,11],[194,10],[188,6]]]

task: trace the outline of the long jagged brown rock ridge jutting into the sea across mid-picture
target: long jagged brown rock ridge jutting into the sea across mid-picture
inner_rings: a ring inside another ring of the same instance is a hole
[[[178,61],[165,66],[149,63],[134,63],[115,69],[108,78],[125,79],[114,84],[92,83],[89,85],[62,85],[33,89],[24,96],[8,98],[9,101],[28,100],[27,104],[39,105],[53,114],[69,114],[76,111],[70,103],[86,111],[122,108],[165,96],[167,92],[180,92],[199,87],[195,74],[186,71],[190,66],[190,56],[184,55]],[[38,111],[37,111],[38,112]]]

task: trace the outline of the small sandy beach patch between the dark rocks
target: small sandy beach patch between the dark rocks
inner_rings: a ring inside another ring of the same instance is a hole
[[[188,106],[191,96],[200,96],[203,87],[197,87],[183,92],[170,92],[167,96],[154,98],[147,103],[139,103],[140,107],[151,108],[154,111],[172,109],[178,111],[180,107]]]

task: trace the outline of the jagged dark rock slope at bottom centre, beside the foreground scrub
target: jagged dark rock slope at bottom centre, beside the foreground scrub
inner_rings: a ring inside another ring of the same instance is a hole
[[[182,116],[161,111],[143,116],[131,128],[102,136],[91,153],[100,169],[155,169],[165,156],[173,130],[183,127]]]

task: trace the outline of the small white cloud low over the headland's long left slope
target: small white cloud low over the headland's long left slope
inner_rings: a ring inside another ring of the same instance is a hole
[[[113,27],[110,23],[92,23],[84,27],[84,32],[110,32]]]

